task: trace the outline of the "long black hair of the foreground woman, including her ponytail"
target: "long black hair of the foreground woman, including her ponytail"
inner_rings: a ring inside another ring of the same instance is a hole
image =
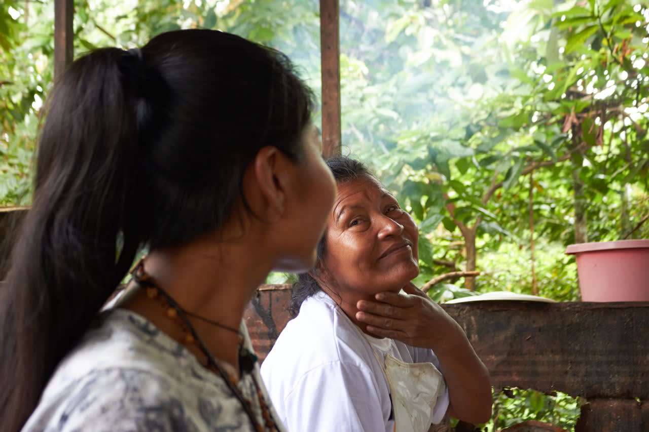
[[[258,150],[299,160],[311,114],[286,56],[224,32],[167,32],[68,67],[0,287],[0,430],[24,424],[138,250],[221,226]]]

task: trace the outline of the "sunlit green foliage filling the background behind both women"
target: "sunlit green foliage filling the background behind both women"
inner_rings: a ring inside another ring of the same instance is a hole
[[[474,245],[478,291],[530,293],[531,187],[539,294],[575,300],[563,250],[576,224],[586,221],[591,241],[612,240],[649,214],[646,2],[341,0],[340,10],[344,151],[419,222],[415,282],[465,269]],[[77,0],[75,53],[227,30],[289,54],[319,94],[318,18],[316,0]],[[53,5],[0,5],[0,56],[0,206],[28,204],[53,80]],[[649,223],[631,234],[643,237]],[[430,296],[472,294],[447,282]],[[578,416],[564,395],[513,394],[496,395],[489,431],[526,418],[570,429]]]

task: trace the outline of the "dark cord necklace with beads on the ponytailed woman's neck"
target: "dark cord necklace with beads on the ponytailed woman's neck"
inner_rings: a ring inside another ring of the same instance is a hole
[[[161,294],[162,297],[164,297],[165,302],[171,307],[171,309],[167,309],[167,316],[169,316],[169,310],[175,311],[177,313],[177,317],[180,318],[180,321],[182,324],[184,324],[184,327],[186,328],[186,331],[188,331],[188,335],[186,336],[186,342],[188,343],[194,343],[196,344],[201,352],[207,357],[208,365],[207,367],[214,368],[215,372],[221,378],[223,378],[223,381],[225,381],[226,385],[228,386],[228,389],[234,394],[234,396],[237,398],[239,403],[241,404],[241,407],[243,408],[243,411],[247,414],[249,420],[251,421],[252,425],[257,429],[258,431],[262,432],[264,429],[263,427],[258,424],[254,413],[252,412],[252,404],[249,400],[247,400],[243,394],[241,394],[241,390],[239,390],[239,387],[237,387],[236,382],[234,381],[234,378],[230,376],[225,369],[223,369],[223,366],[221,366],[210,350],[208,350],[207,346],[202,342],[201,337],[199,337],[198,333],[196,330],[193,328],[191,325],[190,320],[187,318],[188,316],[197,318],[200,320],[203,320],[204,322],[207,322],[208,324],[212,324],[214,326],[223,328],[228,331],[232,331],[239,335],[239,339],[241,339],[241,335],[239,334],[238,330],[234,330],[234,328],[224,326],[223,324],[220,324],[219,322],[212,321],[208,318],[201,317],[200,315],[196,315],[194,313],[190,313],[173,299],[169,294],[167,294],[162,288],[160,288],[156,283],[151,280],[151,277],[149,274],[147,274],[144,271],[144,258],[141,258],[140,261],[133,267],[133,269],[130,271],[130,274],[132,276],[132,279],[141,287],[145,287],[147,289],[147,296],[149,298],[155,298],[158,294]],[[172,314],[173,315],[173,314]],[[169,318],[175,318],[169,316]],[[239,347],[239,368],[243,370],[244,372],[251,373],[252,370],[254,369],[254,363],[256,363],[257,357],[256,355],[252,354],[247,350],[246,348],[243,347],[243,344],[240,344]],[[254,376],[252,376],[252,381],[254,383],[254,386],[256,387],[257,390],[257,396],[259,398],[260,404],[262,404],[262,411],[263,411],[263,417],[264,420],[266,421],[266,426],[269,427],[269,430],[271,431],[276,431],[278,430],[275,425],[275,421],[272,418],[272,415],[270,413],[270,409],[268,407],[265,407],[265,402],[263,400],[263,395],[260,390],[260,387],[257,385],[256,380],[254,379]],[[263,409],[265,407],[265,409]]]

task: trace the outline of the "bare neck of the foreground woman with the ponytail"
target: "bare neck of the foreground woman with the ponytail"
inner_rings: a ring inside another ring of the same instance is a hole
[[[252,294],[272,268],[271,261],[260,255],[242,240],[217,244],[199,240],[180,248],[153,250],[144,261],[144,270],[182,309],[238,330]],[[184,341],[178,324],[144,293],[124,307],[151,320],[173,339]],[[238,333],[197,318],[188,319],[210,354],[239,370]],[[206,363],[201,350],[187,348]]]

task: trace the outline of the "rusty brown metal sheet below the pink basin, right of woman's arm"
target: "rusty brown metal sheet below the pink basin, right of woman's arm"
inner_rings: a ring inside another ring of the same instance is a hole
[[[496,389],[649,398],[649,303],[443,305],[467,332]]]

